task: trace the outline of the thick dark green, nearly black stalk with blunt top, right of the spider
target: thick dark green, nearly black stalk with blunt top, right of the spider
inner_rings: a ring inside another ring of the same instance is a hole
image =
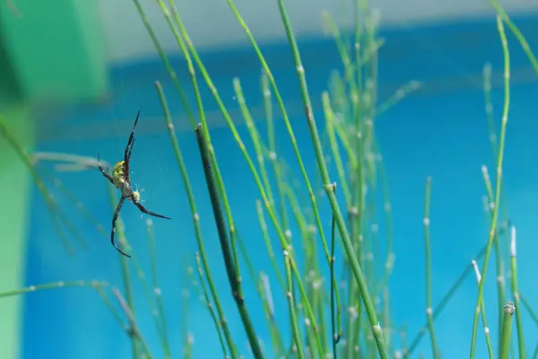
[[[262,353],[259,341],[257,340],[256,332],[248,315],[247,308],[245,307],[245,299],[242,296],[239,296],[239,293],[241,293],[241,285],[238,281],[236,267],[233,264],[230,241],[228,239],[226,224],[224,221],[224,216],[222,214],[220,203],[221,201],[219,199],[217,183],[213,174],[211,154],[209,153],[209,150],[207,148],[207,138],[205,138],[204,136],[204,129],[202,128],[202,126],[202,124],[199,124],[198,127],[196,127],[195,129],[196,140],[198,142],[202,162],[204,163],[205,181],[207,183],[207,188],[211,197],[213,215],[215,223],[217,225],[217,230],[219,232],[222,257],[224,258],[224,262],[226,264],[226,272],[228,274],[228,280],[230,282],[230,289],[238,307],[241,320],[243,321],[243,326],[245,328],[245,331],[247,332],[248,342],[250,343],[250,347],[252,348],[252,352],[256,359],[260,359],[263,358],[264,355]]]

